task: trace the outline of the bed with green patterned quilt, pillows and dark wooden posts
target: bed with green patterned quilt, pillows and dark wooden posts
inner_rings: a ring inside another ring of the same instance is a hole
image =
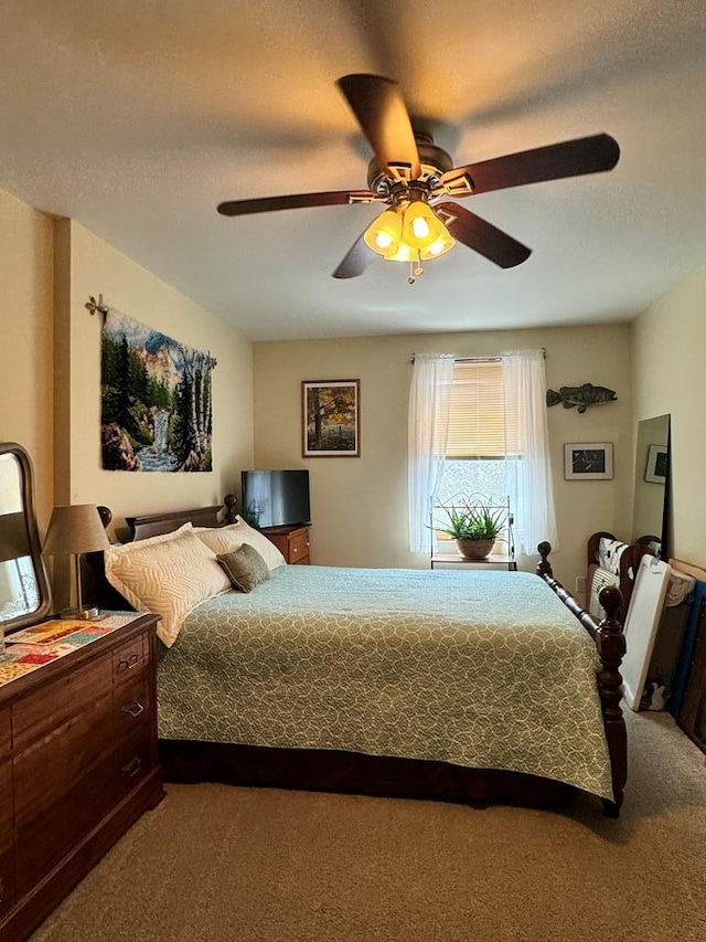
[[[178,539],[194,549],[211,541],[218,555],[247,528],[232,498],[223,521],[220,510],[132,518],[133,540],[108,552],[120,565],[128,558],[136,580]],[[553,579],[548,543],[541,578],[270,568],[253,544],[268,568],[253,591],[211,586],[173,637],[165,613],[158,709],[168,781],[532,806],[587,792],[618,815],[627,775],[618,589],[603,591],[599,625]],[[106,573],[133,607],[163,605],[116,579],[109,560]],[[170,579],[147,582],[159,594]],[[125,607],[124,599],[103,604]]]

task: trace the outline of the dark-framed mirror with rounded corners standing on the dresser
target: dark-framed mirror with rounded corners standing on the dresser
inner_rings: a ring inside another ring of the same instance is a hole
[[[46,617],[52,595],[34,516],[30,456],[0,444],[0,629],[4,634]]]

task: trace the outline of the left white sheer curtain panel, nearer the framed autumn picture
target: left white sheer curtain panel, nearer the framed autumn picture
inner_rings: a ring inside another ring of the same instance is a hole
[[[431,509],[441,479],[449,432],[454,359],[450,353],[415,356],[409,393],[409,549],[431,546]]]

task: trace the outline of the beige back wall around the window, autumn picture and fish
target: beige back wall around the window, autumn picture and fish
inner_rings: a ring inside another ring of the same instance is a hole
[[[407,549],[407,402],[410,358],[458,357],[546,347],[550,388],[592,382],[618,401],[584,415],[548,412],[561,551],[555,571],[567,588],[585,573],[586,539],[595,530],[627,532],[632,489],[632,395],[628,325],[525,331],[362,337],[261,342],[254,346],[257,467],[308,467],[312,557],[330,565],[428,565]],[[361,457],[301,457],[302,380],[361,380]],[[612,442],[609,481],[564,480],[565,442]],[[527,561],[527,564],[533,564]]]

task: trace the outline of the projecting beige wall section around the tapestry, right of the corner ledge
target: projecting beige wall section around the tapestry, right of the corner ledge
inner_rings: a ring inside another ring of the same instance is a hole
[[[252,345],[126,255],[68,220],[57,222],[56,502],[105,504],[125,516],[221,504],[252,463]],[[196,474],[107,472],[100,467],[100,315],[104,304],[163,334],[213,353],[213,465]],[[68,387],[66,387],[68,383]],[[62,404],[62,390],[68,390]]]

